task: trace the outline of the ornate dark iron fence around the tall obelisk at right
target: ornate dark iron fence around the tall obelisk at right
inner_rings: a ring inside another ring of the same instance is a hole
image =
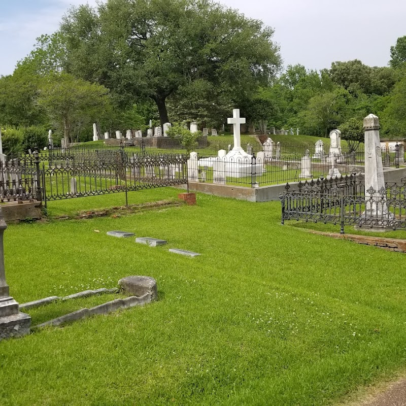
[[[340,224],[343,234],[345,225],[406,229],[406,179],[365,191],[357,177],[348,177],[335,180],[327,190],[311,184],[298,190],[287,188],[280,200],[282,224],[286,220]]]

